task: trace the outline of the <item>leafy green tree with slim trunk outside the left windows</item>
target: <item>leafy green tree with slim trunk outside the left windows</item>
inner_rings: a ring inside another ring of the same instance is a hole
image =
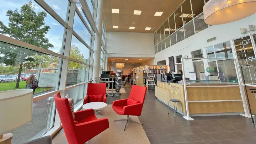
[[[0,21],[0,33],[7,34],[12,38],[18,39],[20,41],[38,46],[44,49],[53,48],[53,45],[49,43],[48,38],[45,34],[48,33],[50,27],[45,24],[44,18],[46,18],[47,13],[44,11],[34,11],[32,1],[29,1],[25,5],[21,6],[20,12],[18,10],[8,10],[6,16],[9,17],[9,24],[5,26],[2,21]],[[1,44],[6,46],[8,44]],[[11,48],[13,47],[13,48]],[[31,57],[36,52],[33,50],[28,50],[25,48],[15,47],[15,46],[0,46],[0,54],[10,55],[7,58],[9,62],[6,65],[19,65],[20,69],[18,72],[18,79],[16,83],[16,88],[20,84],[20,74],[22,71],[22,66],[24,59]],[[13,58],[11,58],[11,55]]]

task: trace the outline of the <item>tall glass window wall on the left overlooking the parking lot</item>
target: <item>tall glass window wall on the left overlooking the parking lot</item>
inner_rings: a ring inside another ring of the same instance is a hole
[[[91,36],[95,33],[91,26],[95,24],[90,25],[87,18],[91,15],[82,12],[87,8],[82,8],[79,1],[77,8],[70,4],[70,0],[37,1],[2,0],[4,5],[0,6],[0,37],[7,36],[8,40],[8,43],[0,42],[0,75],[4,76],[0,80],[0,91],[24,89],[32,74],[39,80],[34,93],[32,121],[12,132],[15,144],[52,134],[49,129],[59,128],[60,119],[55,116],[54,101],[50,103],[52,109],[48,109],[47,99],[60,90],[66,89],[65,93],[74,98],[75,107],[81,106],[89,80],[89,65],[93,63],[93,60],[90,62],[90,47]],[[96,20],[94,3],[91,0],[86,2]],[[73,25],[73,30],[68,29],[68,22]],[[103,41],[105,38],[103,30]],[[103,69],[104,50],[102,53]],[[31,127],[36,129],[31,131]]]

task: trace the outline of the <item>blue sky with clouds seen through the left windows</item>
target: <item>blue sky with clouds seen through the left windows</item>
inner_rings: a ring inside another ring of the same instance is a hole
[[[68,0],[44,0],[64,21],[66,21],[66,15],[68,10]],[[89,0],[87,0],[89,1]],[[6,16],[7,10],[14,11],[18,9],[20,11],[21,6],[29,2],[29,0],[1,0],[1,3],[4,5],[0,5],[0,21],[4,23],[4,25],[8,26],[9,17]],[[32,5],[34,6],[34,11],[44,11],[42,7],[40,7],[35,1],[32,0]],[[77,5],[79,6],[79,5]],[[91,5],[92,6],[92,5]],[[90,8],[90,5],[89,5]],[[93,8],[93,7],[92,7]],[[81,10],[81,8],[80,8]],[[82,14],[83,15],[83,14]],[[85,18],[85,16],[83,15]],[[46,34],[46,37],[49,39],[49,42],[53,44],[54,48],[49,48],[55,53],[58,53],[62,48],[62,41],[65,32],[65,28],[52,16],[49,14],[45,18],[46,25],[50,26],[49,32]],[[89,22],[86,20],[86,23]],[[80,20],[80,18],[76,15],[74,20],[74,28],[73,30],[89,45],[90,44],[90,33]],[[75,44],[79,47],[81,54],[85,56],[85,58],[89,58],[89,49],[84,46],[78,39],[72,39],[72,44]]]

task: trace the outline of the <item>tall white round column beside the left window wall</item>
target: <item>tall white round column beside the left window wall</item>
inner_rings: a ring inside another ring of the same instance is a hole
[[[102,22],[103,22],[103,0],[98,0],[98,32],[99,35],[96,36],[96,46],[95,46],[95,55],[94,55],[94,69],[92,72],[92,80],[95,76],[98,77],[100,74],[100,54],[101,54],[101,35],[102,35]]]

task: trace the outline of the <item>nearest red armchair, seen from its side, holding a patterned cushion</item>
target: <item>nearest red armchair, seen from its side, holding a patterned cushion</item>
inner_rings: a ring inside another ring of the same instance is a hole
[[[57,93],[54,101],[69,144],[84,144],[109,128],[108,119],[97,119],[93,109],[75,112],[74,119],[68,98],[61,98]]]

